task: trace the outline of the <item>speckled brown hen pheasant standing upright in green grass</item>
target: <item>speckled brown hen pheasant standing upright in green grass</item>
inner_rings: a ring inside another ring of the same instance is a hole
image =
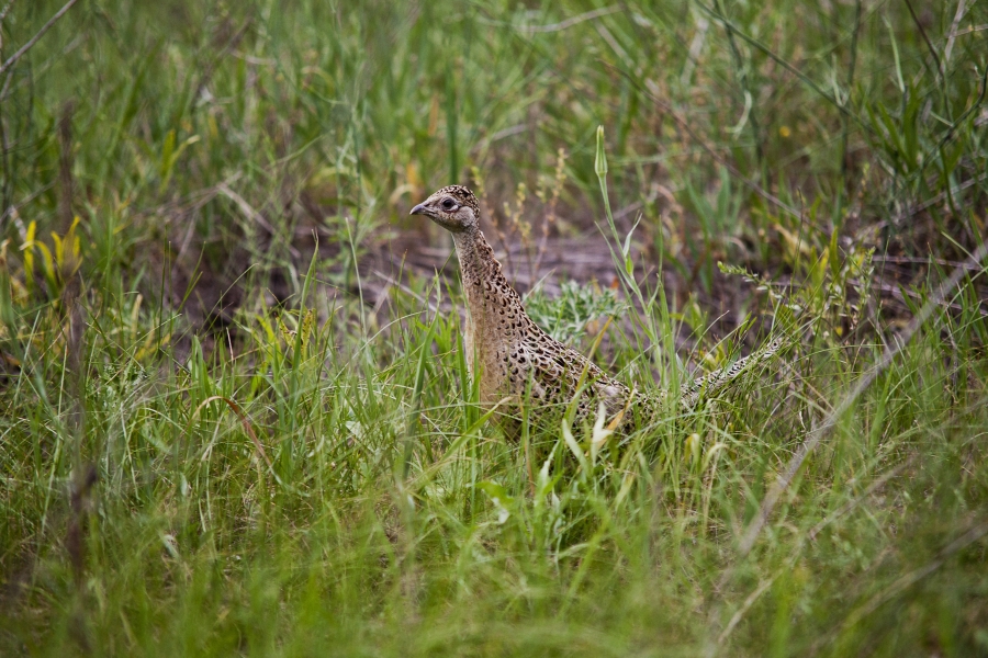
[[[628,429],[632,418],[654,417],[661,395],[632,392],[531,321],[480,230],[480,206],[470,190],[442,188],[411,214],[425,215],[452,234],[467,296],[467,366],[471,377],[480,376],[483,408],[490,410],[502,402],[517,408],[527,399],[538,412],[569,404],[579,392],[577,417],[586,418],[603,406],[608,429]],[[749,363],[771,358],[779,347],[781,342],[774,341],[728,370],[684,386],[680,404],[693,407],[703,394],[721,390]],[[518,429],[517,419],[508,413],[501,417],[501,423],[509,434]]]

